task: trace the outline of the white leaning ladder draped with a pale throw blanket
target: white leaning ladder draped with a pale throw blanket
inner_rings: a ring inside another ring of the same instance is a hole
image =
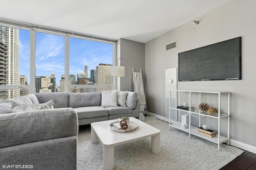
[[[148,116],[147,104],[146,104],[146,97],[144,92],[144,84],[142,80],[142,73],[141,69],[140,72],[134,72],[134,68],[132,68],[133,73],[133,85],[134,85],[134,92],[138,94],[138,100],[140,102],[140,112],[143,112],[146,109],[146,114]]]

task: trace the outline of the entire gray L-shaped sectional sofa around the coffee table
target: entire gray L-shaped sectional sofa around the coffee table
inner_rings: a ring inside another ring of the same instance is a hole
[[[14,165],[16,169],[76,170],[78,125],[139,116],[136,92],[125,97],[122,93],[118,106],[103,94],[37,93],[0,104],[0,169]]]

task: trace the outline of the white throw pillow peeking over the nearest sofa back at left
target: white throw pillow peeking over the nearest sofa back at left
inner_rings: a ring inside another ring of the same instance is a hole
[[[41,110],[41,109],[50,109],[53,108],[53,100],[50,100],[42,104],[20,104],[14,101],[11,103],[11,113],[20,112],[20,111],[31,111],[31,110]]]

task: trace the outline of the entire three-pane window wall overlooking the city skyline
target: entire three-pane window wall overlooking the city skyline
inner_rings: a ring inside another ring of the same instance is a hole
[[[38,92],[112,90],[115,45],[113,40],[0,20],[0,101]]]

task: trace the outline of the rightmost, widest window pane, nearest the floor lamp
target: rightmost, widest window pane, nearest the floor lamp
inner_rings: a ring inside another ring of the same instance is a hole
[[[113,85],[110,72],[113,63],[113,44],[78,38],[70,38],[69,42],[70,85],[84,85],[84,88],[70,88],[70,92],[112,90],[109,86]],[[92,88],[90,85],[104,86]]]

